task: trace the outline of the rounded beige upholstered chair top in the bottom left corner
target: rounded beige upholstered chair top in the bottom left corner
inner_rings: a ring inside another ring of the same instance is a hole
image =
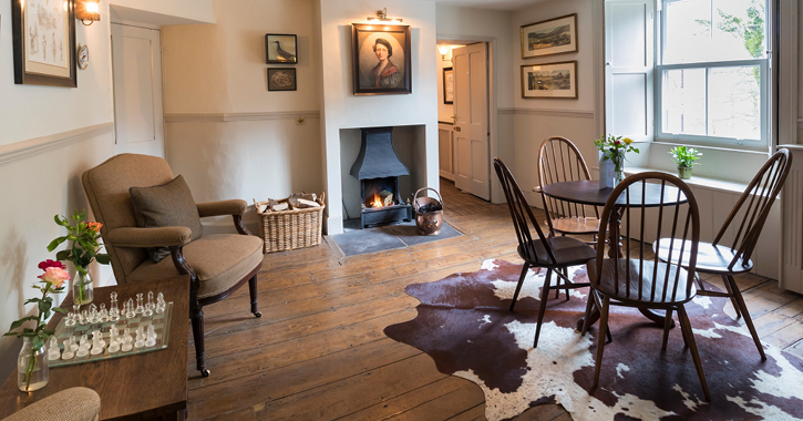
[[[96,421],[101,397],[92,389],[71,388],[14,412],[2,421]]]

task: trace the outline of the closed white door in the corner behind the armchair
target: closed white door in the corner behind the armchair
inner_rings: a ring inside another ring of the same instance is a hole
[[[165,155],[159,39],[155,29],[112,23],[115,154]]]

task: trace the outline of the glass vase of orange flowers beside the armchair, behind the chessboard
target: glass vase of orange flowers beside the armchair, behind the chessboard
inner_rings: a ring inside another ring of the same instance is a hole
[[[92,302],[92,278],[90,277],[89,267],[92,260],[97,260],[101,265],[109,265],[109,255],[97,253],[103,245],[100,243],[101,227],[103,224],[96,222],[84,222],[85,212],[75,214],[71,217],[73,225],[63,216],[55,215],[55,223],[63,226],[68,230],[68,235],[55,238],[48,245],[48,251],[53,251],[64,242],[71,242],[70,248],[55,254],[59,261],[72,261],[75,266],[75,279],[72,283],[73,300],[76,305]]]

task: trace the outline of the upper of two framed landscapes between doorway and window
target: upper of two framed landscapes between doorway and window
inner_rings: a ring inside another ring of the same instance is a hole
[[[522,59],[577,51],[577,13],[522,25]]]

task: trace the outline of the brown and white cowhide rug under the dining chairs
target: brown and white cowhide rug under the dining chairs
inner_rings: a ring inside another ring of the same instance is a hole
[[[488,260],[476,273],[410,285],[406,292],[421,300],[418,316],[384,332],[426,352],[441,372],[477,383],[488,420],[542,403],[559,403],[575,420],[803,419],[803,361],[766,345],[768,360],[761,361],[747,329],[723,311],[727,298],[697,297],[687,305],[711,403],[703,400],[680,328],[661,352],[661,328],[618,306],[611,306],[614,342],[605,348],[599,388],[589,393],[598,331],[595,326],[583,337],[575,330],[588,290],[570,290],[569,301],[563,291],[559,299],[550,292],[534,349],[546,270],[529,271],[511,312],[521,268]],[[586,277],[585,267],[572,269],[573,279]]]

